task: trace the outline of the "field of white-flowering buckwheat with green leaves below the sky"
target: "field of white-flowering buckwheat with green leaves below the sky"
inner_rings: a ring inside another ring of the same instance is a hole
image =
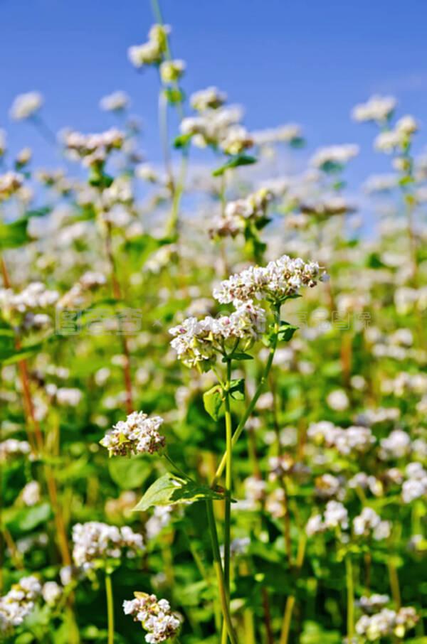
[[[16,97],[57,168],[0,131],[1,641],[426,644],[418,121],[354,107],[390,169],[348,186],[357,144],[187,96],[154,8],[162,164],[124,92],[97,134]]]

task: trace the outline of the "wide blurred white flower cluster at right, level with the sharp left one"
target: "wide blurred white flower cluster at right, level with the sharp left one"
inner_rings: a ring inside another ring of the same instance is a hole
[[[342,429],[330,421],[321,421],[310,424],[307,436],[317,444],[327,444],[339,451],[339,454],[364,452],[375,442],[374,436],[368,427],[351,426]]]

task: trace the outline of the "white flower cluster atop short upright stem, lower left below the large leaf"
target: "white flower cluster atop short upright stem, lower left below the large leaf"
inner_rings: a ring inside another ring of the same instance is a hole
[[[76,566],[88,571],[102,567],[106,559],[136,557],[144,549],[142,535],[127,525],[116,527],[98,521],[76,523],[73,526],[73,560]]]

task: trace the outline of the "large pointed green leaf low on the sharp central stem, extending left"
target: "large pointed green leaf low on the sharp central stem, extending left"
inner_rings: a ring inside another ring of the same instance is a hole
[[[198,485],[193,481],[186,481],[168,472],[149,486],[147,492],[139,501],[134,512],[144,512],[155,505],[175,505],[176,503],[192,503],[203,499],[223,499],[206,485]]]

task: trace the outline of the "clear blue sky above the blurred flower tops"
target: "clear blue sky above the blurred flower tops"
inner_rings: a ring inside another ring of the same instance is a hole
[[[250,129],[299,122],[310,149],[359,142],[357,180],[388,163],[371,151],[373,130],[350,121],[354,103],[391,92],[402,114],[425,119],[426,0],[161,1],[188,92],[218,85],[246,107]],[[151,23],[149,0],[0,0],[0,127],[11,147],[30,144],[37,161],[58,163],[28,124],[9,121],[17,93],[43,92],[53,129],[100,131],[114,119],[99,99],[121,89],[159,159],[157,78],[135,73],[126,54]]]

